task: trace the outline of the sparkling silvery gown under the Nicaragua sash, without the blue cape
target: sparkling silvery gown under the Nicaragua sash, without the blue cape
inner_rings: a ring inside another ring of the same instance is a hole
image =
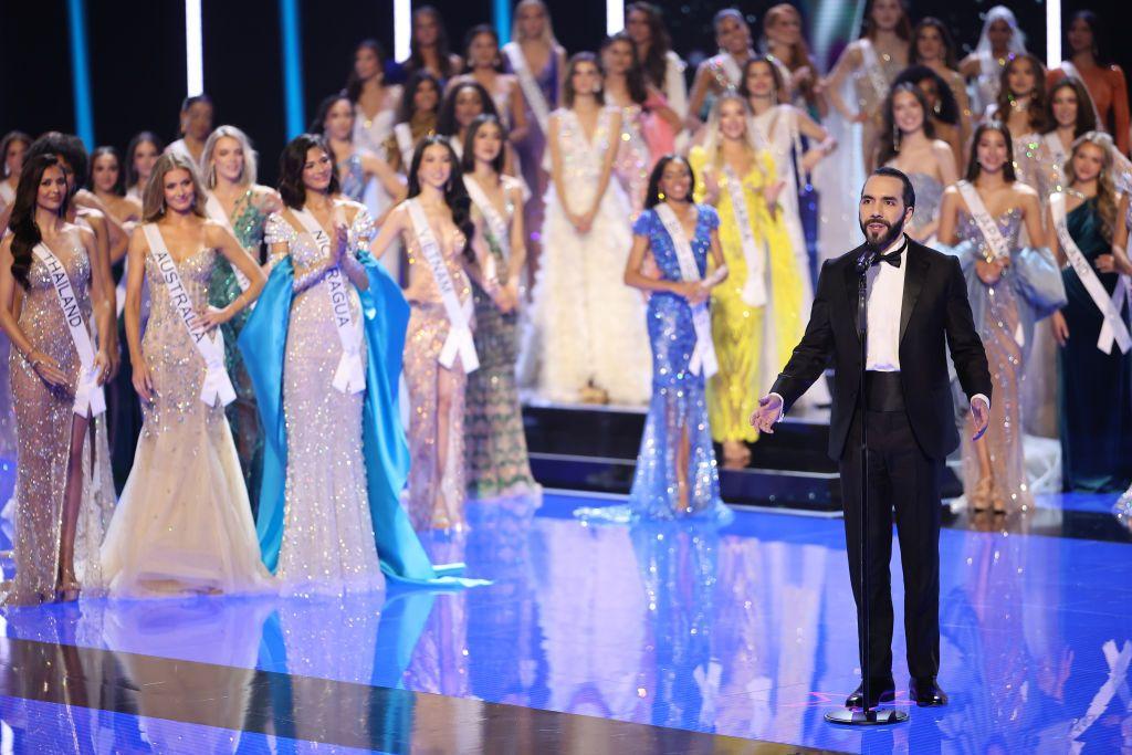
[[[374,222],[359,209],[350,249],[367,246]],[[267,220],[268,244],[285,243],[295,266],[294,298],[283,362],[286,482],[283,540],[275,576],[284,593],[341,594],[385,586],[374,540],[362,457],[366,394],[334,388],[342,342],[334,324],[323,252],[283,215]],[[303,271],[311,271],[303,273]],[[361,317],[353,285],[350,316]],[[365,366],[366,340],[361,342]]]

